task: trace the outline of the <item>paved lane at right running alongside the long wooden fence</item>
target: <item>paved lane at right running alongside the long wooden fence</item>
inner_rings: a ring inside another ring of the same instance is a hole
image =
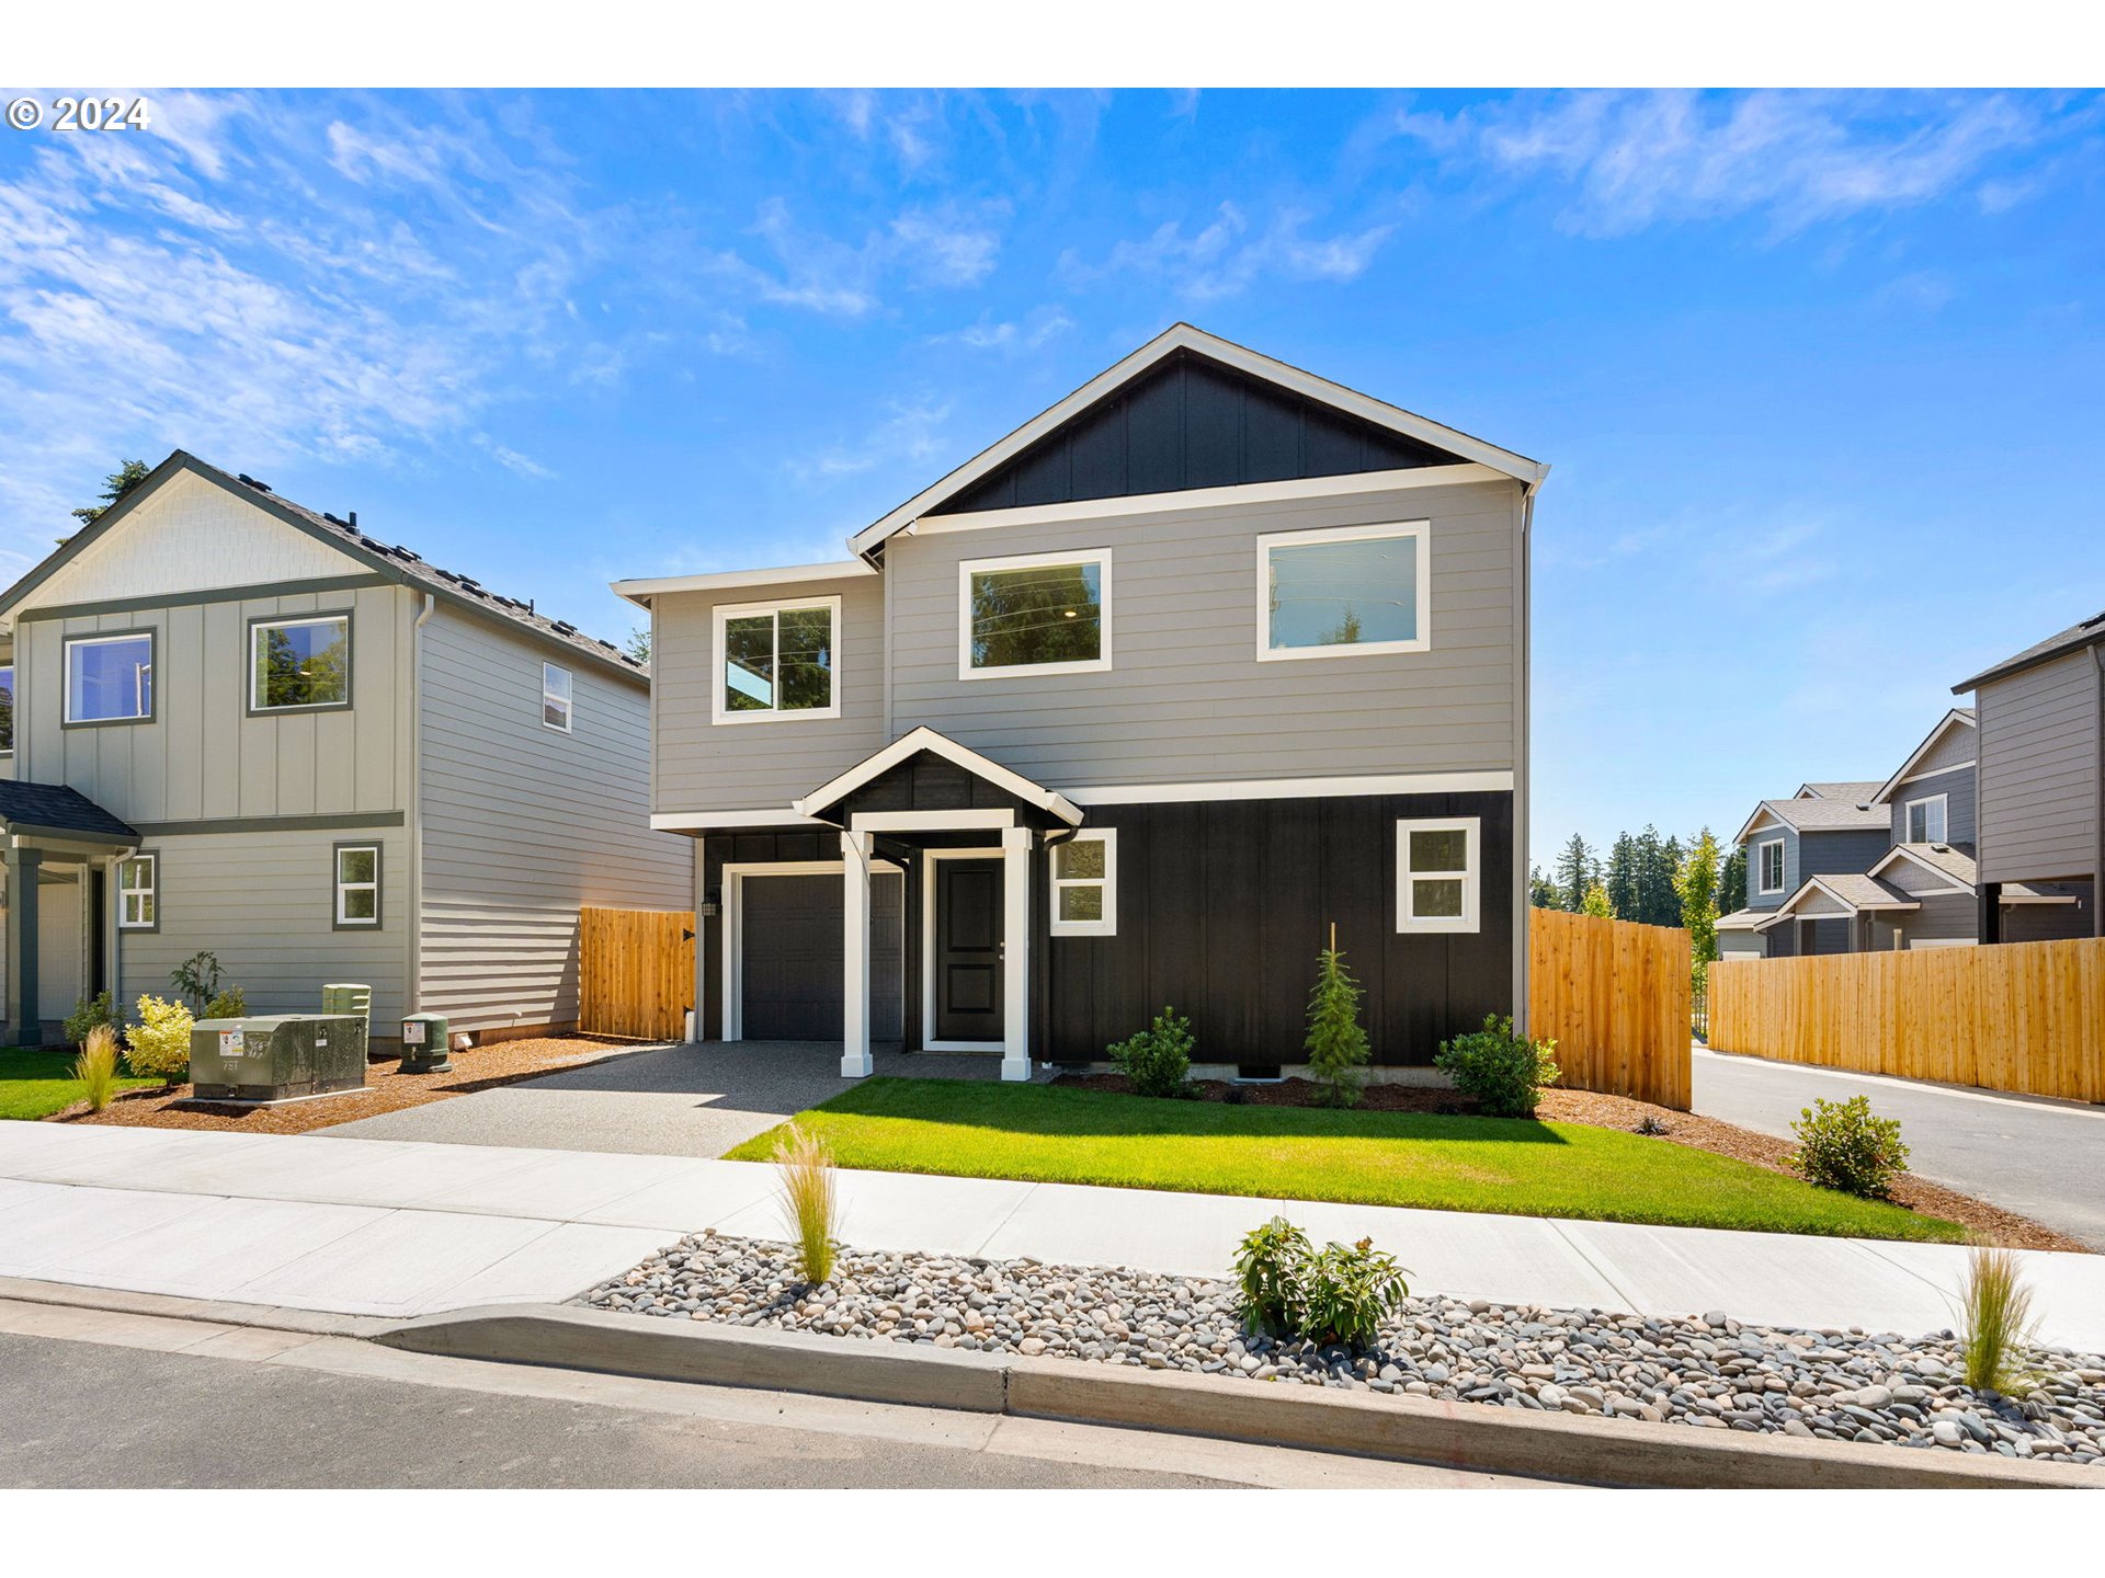
[[[1901,1119],[1907,1166],[2105,1252],[2105,1107],[1695,1050],[1695,1109],[1783,1134],[1815,1096]]]

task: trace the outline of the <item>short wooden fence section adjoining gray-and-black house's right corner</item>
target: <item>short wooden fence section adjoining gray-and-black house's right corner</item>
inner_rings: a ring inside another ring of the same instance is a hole
[[[1688,1111],[1688,932],[1528,911],[1528,1031],[1562,1086]],[[1713,966],[1716,968],[1716,966]]]

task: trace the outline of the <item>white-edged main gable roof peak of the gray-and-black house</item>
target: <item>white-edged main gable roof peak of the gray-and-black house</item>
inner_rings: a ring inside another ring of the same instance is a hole
[[[1227,368],[1234,368],[1252,379],[1288,389],[1305,400],[1341,410],[1347,417],[1370,423],[1375,427],[1387,429],[1391,433],[1402,433],[1419,444],[1429,444],[1438,450],[1446,450],[1461,463],[1482,465],[1495,473],[1509,476],[1524,482],[1528,488],[1541,486],[1543,478],[1549,476],[1549,467],[1541,461],[1530,461],[1524,454],[1513,454],[1497,444],[1486,444],[1480,438],[1471,438],[1455,427],[1436,423],[1429,417],[1419,417],[1417,412],[1404,410],[1402,406],[1391,406],[1372,396],[1364,396],[1356,389],[1347,389],[1341,383],[1330,383],[1314,372],[1307,372],[1286,362],[1276,362],[1269,356],[1261,356],[1244,345],[1225,341],[1219,335],[1208,335],[1191,324],[1172,324],[1164,332],[1156,335],[1141,349],[1132,351],[1118,364],[1105,368],[1095,379],[1084,383],[1080,389],[1046,406],[1042,412],[1031,417],[1027,423],[1017,427],[1013,433],[996,444],[989,444],[970,461],[949,471],[939,482],[922,488],[918,494],[907,499],[903,505],[871,522],[855,537],[848,539],[848,547],[855,553],[871,555],[886,539],[905,530],[924,513],[933,511],[937,505],[954,499],[956,494],[970,488],[975,482],[991,473],[996,467],[1006,465],[1023,450],[1038,444],[1042,438],[1050,436],[1057,427],[1069,419],[1084,412],[1088,406],[1097,404],[1105,396],[1114,393],[1120,385],[1126,385],[1158,362],[1177,353],[1198,353]]]

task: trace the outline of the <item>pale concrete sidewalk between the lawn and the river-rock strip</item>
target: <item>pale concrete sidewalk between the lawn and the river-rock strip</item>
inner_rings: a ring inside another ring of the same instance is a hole
[[[745,1161],[272,1134],[0,1124],[0,1275],[345,1315],[558,1302],[680,1233],[781,1237]],[[1953,1323],[1966,1252],[1391,1206],[840,1174],[871,1250],[1225,1275],[1276,1212],[1372,1237],[1415,1292],[1640,1315],[1724,1309],[1903,1334]],[[2105,1351],[2105,1258],[2025,1254],[2042,1336]]]

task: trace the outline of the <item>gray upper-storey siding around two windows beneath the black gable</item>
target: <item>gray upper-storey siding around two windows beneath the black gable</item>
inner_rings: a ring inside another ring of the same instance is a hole
[[[893,734],[1050,787],[1518,768],[1522,488],[1398,488],[895,537]],[[1429,520],[1431,646],[1259,663],[1257,537]],[[1101,673],[958,677],[964,560],[1111,549]]]

